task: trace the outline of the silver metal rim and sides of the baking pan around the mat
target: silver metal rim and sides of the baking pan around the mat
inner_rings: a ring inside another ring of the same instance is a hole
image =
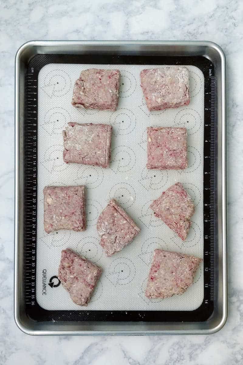
[[[66,46],[64,47],[64,44],[66,44]],[[76,49],[75,49],[75,46]],[[224,135],[224,127],[225,127],[225,60],[224,60],[224,56],[221,52],[221,50],[219,49],[219,47],[217,47],[216,45],[213,45],[211,43],[203,43],[203,42],[172,42],[172,43],[166,43],[166,42],[161,42],[161,43],[150,43],[150,42],[133,42],[130,44],[126,44],[125,42],[114,42],[114,43],[110,43],[110,42],[102,42],[102,43],[89,43],[89,42],[74,42],[74,43],[69,43],[69,42],[53,42],[52,46],[51,43],[49,42],[44,42],[41,46],[40,43],[38,42],[33,42],[30,43],[27,46],[23,46],[23,48],[19,51],[19,53],[17,54],[16,57],[16,128],[17,128],[17,135],[16,135],[16,147],[17,147],[17,151],[19,148],[19,142],[23,142],[23,134],[24,134],[24,118],[23,118],[23,107],[24,107],[24,100],[21,97],[19,90],[20,88],[24,87],[24,79],[23,79],[23,69],[19,70],[19,67],[21,68],[25,68],[25,70],[28,70],[28,66],[30,66],[29,64],[29,59],[31,56],[34,56],[36,53],[40,53],[40,54],[45,54],[44,57],[50,57],[49,55],[47,56],[47,54],[62,54],[62,56],[59,56],[59,58],[62,59],[62,61],[66,60],[67,57],[69,57],[70,55],[70,51],[71,51],[71,47],[74,47],[73,50],[75,50],[75,54],[76,56],[72,56],[72,57],[79,57],[80,59],[80,55],[82,55],[82,60],[86,60],[86,62],[83,63],[88,63],[87,59],[90,59],[91,55],[92,57],[97,53],[99,54],[99,62],[101,62],[100,60],[102,59],[102,63],[103,64],[109,64],[111,62],[107,62],[107,57],[111,57],[113,58],[113,61],[116,59],[116,64],[118,63],[129,63],[132,62],[134,64],[141,62],[142,64],[148,64],[148,62],[145,62],[149,59],[151,59],[153,56],[153,61],[154,58],[157,58],[157,60],[160,59],[159,62],[153,62],[154,64],[164,64],[165,61],[169,62],[169,64],[173,64],[173,62],[176,63],[176,59],[174,57],[177,57],[177,60],[179,59],[179,57],[184,56],[184,57],[188,57],[188,59],[191,59],[191,61],[195,61],[195,57],[205,57],[205,64],[207,63],[206,61],[209,59],[209,61],[212,62],[212,65],[214,66],[214,68],[212,67],[210,69],[210,62],[208,64],[208,68],[206,69],[206,66],[203,68],[203,72],[205,73],[205,75],[207,75],[207,80],[210,80],[210,78],[214,78],[215,83],[214,83],[214,93],[213,95],[215,95],[215,102],[213,103],[213,110],[215,112],[215,119],[213,120],[214,123],[214,129],[213,129],[213,135],[216,137],[215,141],[217,142],[215,144],[215,153],[217,154],[217,161],[218,164],[213,166],[214,169],[214,175],[216,176],[216,178],[214,179],[214,181],[216,181],[217,183],[217,190],[216,190],[216,201],[217,201],[217,212],[216,212],[216,216],[213,217],[213,230],[215,233],[214,236],[214,241],[213,241],[213,247],[214,247],[214,253],[213,256],[214,257],[221,257],[223,258],[223,262],[219,261],[219,264],[214,265],[213,268],[215,269],[215,281],[214,281],[214,295],[213,295],[213,315],[211,315],[211,319],[210,320],[201,320],[200,322],[190,322],[189,317],[188,318],[184,318],[186,323],[183,323],[183,326],[180,323],[180,315],[178,314],[178,318],[177,321],[173,322],[168,322],[166,323],[165,321],[161,321],[161,322],[157,322],[154,323],[153,319],[151,318],[149,320],[149,322],[142,322],[142,323],[125,323],[124,321],[127,320],[128,317],[126,317],[125,315],[123,315],[122,313],[120,313],[121,317],[120,317],[120,322],[119,323],[111,323],[111,321],[109,322],[92,322],[89,323],[89,326],[86,327],[86,324],[84,322],[80,323],[80,322],[76,322],[74,320],[67,320],[64,326],[64,323],[62,322],[48,322],[48,326],[46,323],[43,323],[41,320],[40,322],[36,323],[33,322],[31,319],[24,319],[27,318],[26,317],[26,306],[24,304],[24,287],[23,287],[23,276],[15,276],[16,278],[16,306],[15,306],[15,318],[16,318],[16,322],[19,323],[19,326],[23,328],[23,330],[25,329],[28,333],[39,333],[38,328],[41,328],[43,330],[42,333],[53,333],[52,331],[61,331],[59,333],[87,333],[87,328],[92,327],[92,331],[94,331],[94,333],[101,333],[102,332],[106,332],[106,333],[144,333],[145,329],[148,331],[148,333],[159,333],[160,331],[162,331],[162,333],[175,333],[175,331],[179,331],[179,333],[202,333],[202,331],[207,331],[208,333],[210,331],[215,331],[217,326],[219,326],[219,323],[222,323],[222,321],[225,320],[226,318],[226,242],[225,242],[225,211],[222,211],[222,204],[224,206],[225,204],[225,200],[224,200],[224,194],[225,194],[225,166],[224,166],[224,162],[225,162],[225,151],[224,151],[224,142],[225,142],[225,135]],[[31,54],[32,52],[32,54]],[[74,51],[72,51],[72,53],[74,53]],[[148,56],[149,55],[149,56]],[[172,56],[173,55],[173,56]],[[115,56],[115,57],[114,57]],[[22,57],[22,58],[21,58]],[[24,57],[26,57],[26,63],[21,62],[20,65],[20,58],[23,61]],[[171,59],[169,59],[169,57],[171,57]],[[194,58],[193,58],[194,57]],[[119,58],[119,62],[118,59]],[[124,59],[126,59],[127,62],[124,62]],[[174,61],[172,61],[172,59]],[[188,60],[187,59],[187,60]],[[121,62],[122,60],[122,62]],[[75,61],[75,58],[73,59],[73,61]],[[136,61],[136,62],[135,62]],[[34,58],[32,60],[32,62],[34,62]],[[77,62],[77,61],[76,61]],[[50,63],[47,59],[47,63]],[[61,63],[61,62],[59,62]],[[65,62],[62,62],[65,63]],[[75,63],[75,62],[73,62]],[[79,62],[81,63],[81,62]],[[114,63],[114,62],[113,62]],[[150,61],[151,64],[151,61]],[[168,64],[168,63],[167,63]],[[188,63],[185,63],[188,64]],[[35,68],[34,64],[32,66],[33,68]],[[215,70],[215,74],[213,74]],[[22,71],[22,73],[19,71]],[[208,74],[207,74],[208,72]],[[31,73],[31,68],[30,68],[30,73]],[[36,79],[35,79],[36,80]],[[207,85],[206,86],[212,87],[213,84],[211,85]],[[210,95],[210,91],[208,91]],[[211,103],[212,105],[212,100],[211,99],[207,99],[208,96],[205,95],[205,100],[207,103]],[[223,102],[222,102],[223,101]],[[219,103],[220,102],[220,103]],[[22,108],[22,109],[21,109]],[[207,108],[210,109],[210,108]],[[21,112],[22,111],[22,112]],[[205,113],[208,110],[205,110]],[[205,114],[204,114],[205,117]],[[208,120],[210,120],[210,118],[212,118],[212,113],[211,114],[207,114],[206,113],[206,119],[209,118]],[[204,119],[205,120],[205,119]],[[205,123],[205,124],[211,124],[212,123]],[[204,126],[204,127],[208,127],[208,126]],[[209,127],[211,127],[209,125]],[[19,130],[20,128],[20,130]],[[210,131],[212,130],[212,128],[210,128]],[[34,131],[34,129],[33,129]],[[35,132],[33,132],[35,133]],[[204,132],[205,135],[205,132]],[[23,148],[23,145],[22,145]],[[223,151],[223,153],[222,153]],[[23,155],[23,149],[20,151],[20,159],[19,161],[16,161],[16,168],[17,168],[17,175],[16,175],[16,215],[18,216],[18,209],[23,207],[23,184],[21,183],[19,177],[23,176],[23,162],[24,162],[24,155]],[[204,155],[204,162],[205,159],[208,158],[210,156],[208,155]],[[207,163],[204,163],[204,167],[207,166]],[[204,171],[204,173],[206,172],[208,175],[205,177],[204,181],[206,181],[207,177],[210,176],[210,165],[209,166],[209,170],[208,171]],[[20,185],[19,185],[20,183]],[[205,195],[205,197],[207,197],[207,195]],[[210,196],[209,196],[210,198]],[[204,204],[208,204],[205,202],[204,200]],[[209,205],[209,204],[208,204]],[[207,206],[208,206],[207,205]],[[207,209],[204,208],[204,212],[207,214]],[[208,211],[209,212],[209,211]],[[207,219],[208,218],[208,219]],[[212,218],[212,217],[211,217]],[[223,219],[223,223],[222,224],[222,219]],[[210,217],[205,217],[204,216],[204,226],[205,224],[207,225],[210,222]],[[21,233],[23,233],[23,228],[24,228],[24,224],[23,224],[23,220],[16,220],[16,261],[17,258],[20,261],[15,262],[16,263],[16,272],[19,274],[19,269],[20,266],[23,268],[24,266],[24,257],[23,257],[23,240],[19,240],[19,237]],[[220,225],[220,227],[219,227]],[[220,229],[219,229],[220,228]],[[23,235],[21,235],[21,239],[23,238]],[[208,238],[205,238],[204,235],[204,245],[207,245],[207,241],[205,242],[205,240],[207,240]],[[220,243],[220,244],[219,244]],[[204,259],[205,256],[210,255],[210,250],[204,250]],[[216,260],[215,260],[216,261]],[[207,262],[207,257],[206,260],[204,262]],[[220,268],[220,265],[222,265],[222,267]],[[204,269],[209,269],[208,266],[204,266]],[[206,270],[205,270],[206,272]],[[217,272],[220,273],[220,275],[217,277]],[[221,274],[223,274],[221,276]],[[206,276],[207,277],[207,276]],[[210,288],[210,283],[205,282],[205,284],[208,285],[208,287]],[[31,284],[32,285],[32,284]],[[222,286],[223,285],[223,286]],[[208,288],[208,287],[205,287]],[[212,291],[211,291],[212,293]],[[35,294],[32,294],[33,296]],[[221,299],[224,300],[221,300]],[[20,300],[21,299],[21,300]],[[207,299],[206,299],[207,300]],[[207,303],[205,303],[205,305],[207,305]],[[28,315],[30,317],[32,317],[33,315],[33,309],[34,306],[30,307],[30,311],[28,312]],[[164,312],[164,314],[166,314],[166,312]],[[129,320],[133,320],[133,314],[130,315]],[[104,315],[105,316],[105,315]],[[21,319],[20,319],[21,318]],[[71,319],[71,318],[70,318]],[[103,318],[105,319],[105,318]],[[21,323],[23,323],[24,320],[24,325],[22,326]],[[214,321],[214,322],[213,322]],[[213,322],[213,324],[212,324]],[[54,324],[55,323],[55,324]],[[91,325],[91,326],[90,326]],[[44,326],[44,328],[43,328]],[[47,327],[46,327],[47,326]],[[105,329],[106,328],[106,329]],[[91,329],[91,328],[90,328]],[[32,332],[34,331],[34,332]],[[56,332],[58,333],[58,332]]]

